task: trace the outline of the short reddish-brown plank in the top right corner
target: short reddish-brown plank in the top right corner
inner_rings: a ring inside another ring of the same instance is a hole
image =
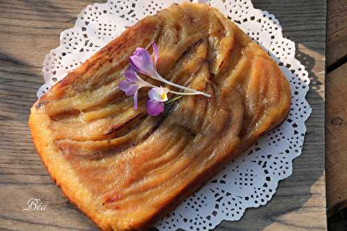
[[[339,60],[347,61],[347,1],[328,1],[327,67]]]

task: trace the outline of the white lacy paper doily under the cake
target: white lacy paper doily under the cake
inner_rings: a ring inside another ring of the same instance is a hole
[[[40,97],[68,71],[119,36],[126,26],[174,2],[180,1],[109,0],[87,6],[78,15],[74,28],[61,33],[60,46],[46,55],[43,63],[45,84],[40,87],[37,96]],[[290,82],[291,110],[288,119],[263,135],[249,149],[248,155],[230,163],[174,212],[165,216],[156,225],[159,230],[210,230],[223,220],[241,219],[248,207],[265,205],[275,194],[278,181],[291,175],[291,162],[301,155],[305,121],[311,113],[305,100],[310,79],[303,65],[294,58],[294,42],[282,37],[278,20],[269,12],[253,8],[251,0],[202,2],[228,15],[255,42],[269,51]]]

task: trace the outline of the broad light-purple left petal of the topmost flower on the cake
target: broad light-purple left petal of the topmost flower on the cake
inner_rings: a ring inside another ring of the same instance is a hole
[[[142,47],[137,47],[133,55],[130,56],[130,65],[139,73],[146,74],[148,76],[157,75],[151,55]]]

